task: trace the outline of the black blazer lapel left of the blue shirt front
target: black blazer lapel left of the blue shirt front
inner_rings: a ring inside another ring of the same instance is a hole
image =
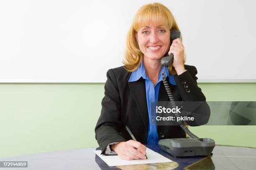
[[[129,77],[127,78],[127,81],[128,80],[129,80]],[[147,98],[146,98],[145,80],[141,77],[139,80],[135,82],[128,81],[128,85],[130,87],[133,98],[138,107],[138,110],[141,113],[141,117],[145,125],[145,128],[148,132],[148,106],[147,106]]]

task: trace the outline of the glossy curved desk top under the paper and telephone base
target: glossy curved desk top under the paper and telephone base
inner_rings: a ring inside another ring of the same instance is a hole
[[[172,163],[155,163],[108,167],[95,153],[95,149],[85,148],[36,153],[31,155],[1,158],[0,161],[28,161],[28,168],[0,168],[0,170],[255,170],[256,148],[215,146],[207,157],[175,158],[164,152],[158,145],[148,148],[173,160]]]

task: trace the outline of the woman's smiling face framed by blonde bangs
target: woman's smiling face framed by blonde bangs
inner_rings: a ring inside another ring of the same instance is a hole
[[[170,48],[170,30],[166,24],[148,23],[136,33],[136,40],[143,57],[160,60]]]

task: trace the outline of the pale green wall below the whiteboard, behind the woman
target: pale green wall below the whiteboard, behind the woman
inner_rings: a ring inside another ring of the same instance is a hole
[[[207,101],[256,101],[256,83],[199,83]],[[0,83],[0,158],[97,147],[104,83]],[[216,144],[256,148],[256,126],[190,127]]]

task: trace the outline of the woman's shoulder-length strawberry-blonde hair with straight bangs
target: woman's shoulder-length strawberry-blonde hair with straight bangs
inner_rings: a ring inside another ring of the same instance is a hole
[[[137,70],[143,58],[143,53],[138,46],[135,34],[138,33],[141,26],[148,24],[150,21],[156,24],[165,21],[170,31],[179,30],[171,11],[166,6],[161,3],[143,5],[135,15],[126,37],[125,60],[123,60],[123,64],[125,65],[125,69],[129,72]],[[184,55],[183,64],[185,61],[186,56]],[[169,74],[177,74],[174,67],[169,67]]]

